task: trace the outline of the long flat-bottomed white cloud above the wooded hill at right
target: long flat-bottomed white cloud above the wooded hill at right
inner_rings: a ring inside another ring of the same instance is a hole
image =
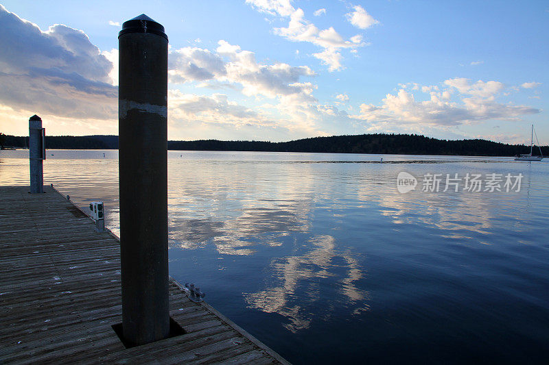
[[[536,114],[540,110],[526,105],[498,103],[496,98],[505,86],[499,81],[476,81],[465,78],[447,79],[445,89],[422,87],[430,99],[417,101],[412,91],[401,88],[396,95],[387,94],[381,105],[363,103],[360,114],[354,116],[366,121],[390,123],[418,123],[423,125],[452,126],[479,123],[491,119],[519,120],[520,116]],[[456,93],[458,101],[452,101]]]

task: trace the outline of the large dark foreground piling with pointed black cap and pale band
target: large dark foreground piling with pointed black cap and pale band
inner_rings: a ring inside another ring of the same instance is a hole
[[[167,36],[141,14],[118,40],[122,332],[138,345],[170,335]]]

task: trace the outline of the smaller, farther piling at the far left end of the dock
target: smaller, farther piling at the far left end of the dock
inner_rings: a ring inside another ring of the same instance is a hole
[[[34,114],[29,118],[30,192],[44,192],[43,160],[46,159],[45,129],[42,119]]]

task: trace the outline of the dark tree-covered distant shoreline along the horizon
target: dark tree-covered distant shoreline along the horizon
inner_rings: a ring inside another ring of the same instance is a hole
[[[28,146],[28,137],[2,136],[3,146]],[[47,149],[118,149],[118,136],[46,136]],[[530,146],[489,140],[439,140],[416,134],[360,134],[314,137],[288,142],[194,140],[168,141],[174,151],[254,151],[295,153],[364,153],[509,157],[529,153]],[[541,146],[549,153],[549,146]]]

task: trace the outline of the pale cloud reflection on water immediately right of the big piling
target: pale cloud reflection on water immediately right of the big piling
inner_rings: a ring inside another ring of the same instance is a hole
[[[313,202],[306,191],[311,175],[303,174],[296,186],[291,180],[297,168],[290,166],[280,175],[272,169],[272,164],[213,163],[204,168],[172,161],[170,244],[182,249],[214,244],[220,254],[250,255],[255,252],[250,247],[278,246],[289,232],[309,231]],[[194,174],[188,177],[183,171]]]

